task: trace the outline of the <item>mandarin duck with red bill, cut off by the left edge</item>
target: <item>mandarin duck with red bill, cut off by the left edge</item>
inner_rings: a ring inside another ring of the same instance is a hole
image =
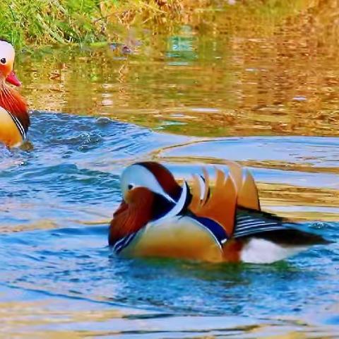
[[[13,46],[0,41],[0,142],[8,147],[21,145],[30,126],[25,100],[6,84],[20,86],[13,72],[14,57]]]

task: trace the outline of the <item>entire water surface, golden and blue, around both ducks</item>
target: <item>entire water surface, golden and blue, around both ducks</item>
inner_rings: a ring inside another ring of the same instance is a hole
[[[217,4],[136,32],[129,55],[20,56],[35,110],[25,148],[0,149],[0,338],[338,338],[335,8],[285,5]],[[111,253],[126,165],[182,179],[224,159],[251,169],[264,210],[334,243],[262,266]]]

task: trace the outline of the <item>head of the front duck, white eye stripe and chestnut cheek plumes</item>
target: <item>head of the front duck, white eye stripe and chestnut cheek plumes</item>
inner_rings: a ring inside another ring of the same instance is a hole
[[[109,244],[137,232],[148,222],[177,215],[188,206],[186,182],[180,186],[169,170],[157,162],[138,162],[121,174],[123,200],[109,227]]]

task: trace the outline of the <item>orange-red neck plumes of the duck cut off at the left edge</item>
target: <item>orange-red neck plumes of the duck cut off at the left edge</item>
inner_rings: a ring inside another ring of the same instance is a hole
[[[4,78],[0,78],[0,107],[16,117],[25,132],[28,131],[30,117],[27,104],[16,90],[6,84]]]

